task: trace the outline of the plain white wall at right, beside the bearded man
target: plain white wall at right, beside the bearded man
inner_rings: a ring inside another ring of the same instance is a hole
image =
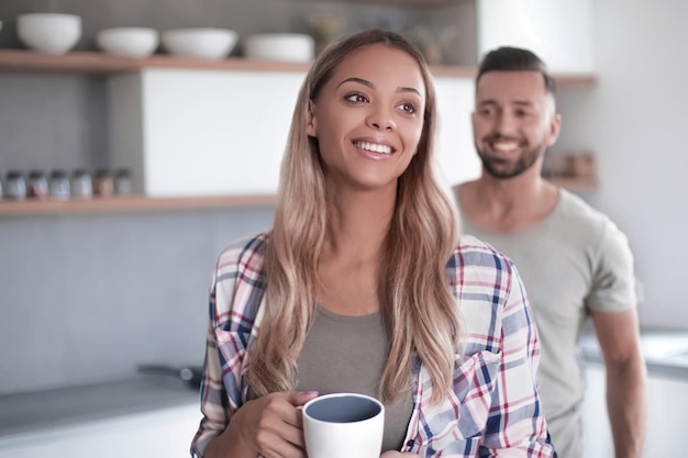
[[[643,325],[688,327],[688,2],[597,0],[592,90],[561,92],[559,149],[597,153],[584,196],[628,234]]]

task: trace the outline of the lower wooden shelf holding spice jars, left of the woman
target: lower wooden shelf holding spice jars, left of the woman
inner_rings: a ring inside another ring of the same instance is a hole
[[[193,211],[271,206],[275,194],[148,198],[141,194],[111,198],[37,200],[0,200],[1,216],[55,215],[78,213],[147,213],[157,211]]]

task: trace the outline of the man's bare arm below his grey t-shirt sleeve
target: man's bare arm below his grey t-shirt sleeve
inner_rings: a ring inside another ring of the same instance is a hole
[[[615,458],[641,458],[647,414],[647,371],[635,309],[591,312],[607,369],[607,409]]]

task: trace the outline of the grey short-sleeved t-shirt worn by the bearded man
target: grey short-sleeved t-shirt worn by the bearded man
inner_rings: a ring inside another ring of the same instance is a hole
[[[559,458],[580,457],[585,380],[578,338],[588,310],[636,305],[633,255],[609,217],[559,190],[552,213],[521,232],[484,231],[464,214],[463,232],[510,257],[525,286],[541,338],[541,396]]]

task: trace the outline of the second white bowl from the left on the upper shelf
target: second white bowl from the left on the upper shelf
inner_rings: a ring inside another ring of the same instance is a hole
[[[122,57],[148,57],[158,43],[158,32],[148,27],[106,29],[96,35],[96,44],[100,49]]]

